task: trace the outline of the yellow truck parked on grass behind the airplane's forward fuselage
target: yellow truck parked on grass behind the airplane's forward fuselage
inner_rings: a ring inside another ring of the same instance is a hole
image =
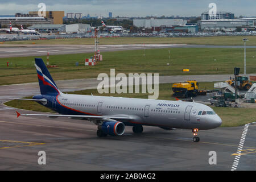
[[[175,97],[195,97],[199,92],[199,83],[195,80],[175,83],[172,84],[172,91]]]

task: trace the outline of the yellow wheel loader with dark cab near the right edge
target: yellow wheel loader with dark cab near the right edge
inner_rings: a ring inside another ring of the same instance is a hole
[[[234,79],[226,80],[225,82],[228,82],[229,85],[235,87]],[[238,89],[249,90],[251,88],[251,85],[253,85],[253,82],[249,81],[249,78],[247,76],[237,76],[237,88]]]

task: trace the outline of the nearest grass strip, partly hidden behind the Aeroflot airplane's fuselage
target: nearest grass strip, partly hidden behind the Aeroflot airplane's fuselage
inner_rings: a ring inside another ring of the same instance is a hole
[[[172,84],[160,84],[159,85],[159,100],[175,100],[172,97]],[[213,82],[200,82],[200,88],[213,89]],[[114,96],[114,97],[129,97],[129,98],[148,98],[147,94],[98,94],[97,89],[81,90],[76,92],[69,92],[69,94],[84,94],[94,96]],[[31,98],[31,97],[27,97]],[[5,103],[7,106],[16,107],[19,109],[27,109],[34,111],[49,112],[52,110],[39,105],[34,101],[20,101],[13,100]],[[213,110],[221,117],[221,127],[234,127],[245,125],[245,123],[255,122],[255,109],[248,108],[229,108],[229,107],[213,107]]]

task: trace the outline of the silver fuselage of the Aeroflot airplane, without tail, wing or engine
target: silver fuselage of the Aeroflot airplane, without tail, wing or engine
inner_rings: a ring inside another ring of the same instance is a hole
[[[209,106],[195,102],[61,93],[57,96],[57,103],[65,109],[79,111],[81,114],[129,115],[133,118],[131,123],[141,125],[207,130],[220,126],[222,122]],[[198,115],[199,111],[213,111],[213,114]]]

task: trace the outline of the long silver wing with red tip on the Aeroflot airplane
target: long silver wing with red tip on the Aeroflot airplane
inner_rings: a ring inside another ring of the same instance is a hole
[[[102,121],[109,121],[111,119],[114,120],[122,120],[122,121],[134,121],[135,119],[138,119],[135,115],[67,115],[67,114],[20,114],[18,111],[16,111],[17,118],[20,115],[24,116],[44,116],[49,118],[57,118],[57,117],[68,117],[72,119],[88,119],[88,120],[102,120]]]

